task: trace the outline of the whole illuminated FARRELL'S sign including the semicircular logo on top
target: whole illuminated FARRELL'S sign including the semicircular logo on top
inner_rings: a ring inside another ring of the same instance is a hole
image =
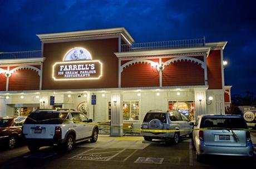
[[[56,62],[52,66],[54,80],[90,80],[100,79],[102,63],[100,60],[91,60],[91,54],[84,48],[69,50],[63,62]]]

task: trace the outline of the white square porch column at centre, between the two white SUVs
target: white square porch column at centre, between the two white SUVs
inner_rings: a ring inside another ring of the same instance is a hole
[[[113,128],[113,127],[122,128],[121,101],[122,101],[122,96],[120,93],[112,93],[111,94],[110,136],[122,136],[122,129]]]

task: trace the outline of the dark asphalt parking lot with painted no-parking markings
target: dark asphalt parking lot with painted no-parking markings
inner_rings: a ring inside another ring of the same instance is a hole
[[[256,134],[252,135],[255,141]],[[31,153],[26,146],[0,151],[0,168],[245,168],[255,167],[256,157],[210,156],[196,162],[190,139],[178,145],[147,142],[142,137],[109,137],[100,135],[96,143],[83,142],[72,152],[43,147]]]

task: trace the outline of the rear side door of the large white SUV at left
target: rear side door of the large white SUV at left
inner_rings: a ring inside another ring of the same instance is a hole
[[[78,112],[72,112],[71,113],[71,120],[73,122],[73,128],[76,131],[76,140],[84,138],[85,134],[85,127],[82,124],[82,120],[80,119],[79,113]]]

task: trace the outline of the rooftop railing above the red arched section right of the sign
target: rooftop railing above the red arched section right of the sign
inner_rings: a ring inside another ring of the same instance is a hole
[[[155,49],[180,49],[204,47],[205,37],[199,39],[170,40],[162,42],[134,43],[132,45],[122,44],[121,52],[137,52]]]

